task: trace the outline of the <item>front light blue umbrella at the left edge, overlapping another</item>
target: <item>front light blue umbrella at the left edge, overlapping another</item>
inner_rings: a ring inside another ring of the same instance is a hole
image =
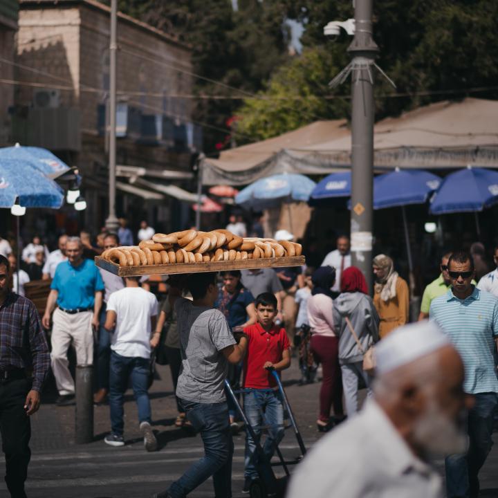
[[[58,209],[64,201],[64,191],[35,167],[0,158],[0,208],[11,208],[16,198],[25,208]]]

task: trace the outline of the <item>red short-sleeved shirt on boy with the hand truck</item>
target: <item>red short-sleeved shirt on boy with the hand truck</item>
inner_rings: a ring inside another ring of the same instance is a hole
[[[244,358],[243,387],[252,389],[267,389],[276,387],[277,381],[273,374],[264,369],[263,365],[270,361],[278,363],[282,353],[291,347],[285,329],[273,325],[267,332],[259,323],[249,325],[244,329],[248,335],[248,349]]]

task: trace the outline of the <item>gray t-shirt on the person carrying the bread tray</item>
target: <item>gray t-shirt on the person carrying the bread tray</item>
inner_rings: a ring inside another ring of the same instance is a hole
[[[221,350],[236,341],[223,313],[184,297],[176,300],[175,311],[182,356],[176,396],[194,403],[225,401],[228,362]]]

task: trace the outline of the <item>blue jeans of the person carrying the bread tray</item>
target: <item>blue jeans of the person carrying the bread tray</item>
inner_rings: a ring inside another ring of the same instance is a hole
[[[172,498],[183,498],[213,477],[214,496],[232,497],[233,442],[228,407],[223,403],[193,403],[181,400],[187,418],[204,443],[204,457],[196,461],[169,487]]]

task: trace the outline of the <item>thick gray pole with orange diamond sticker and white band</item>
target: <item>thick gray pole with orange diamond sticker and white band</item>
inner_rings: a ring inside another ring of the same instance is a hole
[[[372,0],[356,0],[355,35],[348,48],[351,69],[351,264],[372,289],[372,228],[374,177],[374,59]]]

